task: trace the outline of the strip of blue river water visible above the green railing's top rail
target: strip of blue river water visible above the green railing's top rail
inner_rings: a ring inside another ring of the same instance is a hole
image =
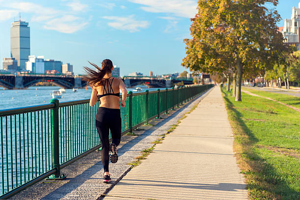
[[[156,90],[157,88],[147,88],[145,86],[139,86],[145,91]],[[6,108],[22,107],[29,105],[38,105],[43,103],[49,103],[52,99],[52,91],[59,90],[60,87],[56,86],[34,86],[24,90],[5,90],[0,87],[0,110]],[[128,91],[134,90],[134,88],[127,88]],[[62,99],[59,102],[70,100],[83,100],[91,97],[92,89],[90,87],[78,89],[78,92],[73,92],[73,89],[66,89],[66,93],[63,93]]]

